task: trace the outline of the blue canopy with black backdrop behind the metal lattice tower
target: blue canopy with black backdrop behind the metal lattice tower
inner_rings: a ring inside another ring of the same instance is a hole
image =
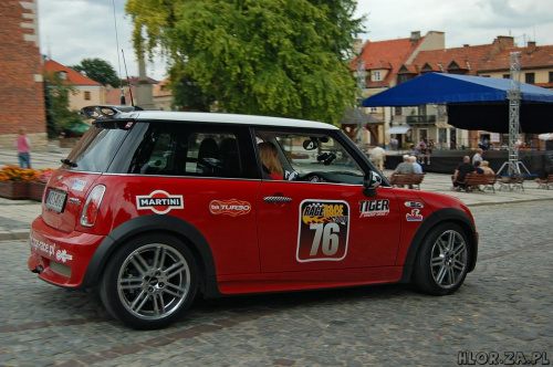
[[[448,123],[465,129],[509,132],[511,80],[428,73],[363,101],[364,107],[447,104]],[[524,133],[553,130],[553,91],[520,83],[519,120]]]

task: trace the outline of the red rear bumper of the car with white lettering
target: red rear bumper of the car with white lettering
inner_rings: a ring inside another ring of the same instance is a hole
[[[61,232],[44,223],[42,217],[31,224],[29,270],[39,277],[63,287],[77,289],[90,261],[105,235],[73,231]]]

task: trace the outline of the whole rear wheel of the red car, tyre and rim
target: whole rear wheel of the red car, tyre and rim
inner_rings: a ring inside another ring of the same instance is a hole
[[[152,233],[124,243],[100,283],[105,308],[136,329],[166,327],[180,318],[198,287],[194,255],[176,238]]]

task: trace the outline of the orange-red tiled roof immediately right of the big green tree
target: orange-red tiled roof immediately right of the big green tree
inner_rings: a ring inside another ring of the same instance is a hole
[[[425,36],[416,41],[411,39],[397,39],[390,41],[367,41],[363,45],[358,59],[365,61],[365,70],[388,70],[386,77],[382,82],[369,82],[367,87],[388,86],[396,77],[399,67],[417,50],[417,46],[425,40]],[[357,65],[355,59],[351,63],[351,70],[354,71]]]

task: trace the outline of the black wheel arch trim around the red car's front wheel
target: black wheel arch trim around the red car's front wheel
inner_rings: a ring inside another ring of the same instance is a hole
[[[468,272],[474,270],[478,258],[478,233],[471,218],[462,210],[455,208],[444,208],[431,213],[417,229],[415,235],[409,244],[409,250],[405,256],[404,271],[401,274],[401,283],[409,283],[413,277],[413,266],[417,259],[420,244],[425,240],[426,235],[438,224],[444,222],[453,222],[461,226],[465,230],[470,245],[470,259]]]

